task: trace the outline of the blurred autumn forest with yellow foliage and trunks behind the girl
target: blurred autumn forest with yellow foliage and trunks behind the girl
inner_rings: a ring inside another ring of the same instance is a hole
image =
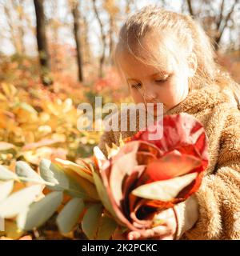
[[[0,0],[1,165],[92,154],[100,133],[77,129],[77,106],[130,101],[112,55],[126,17],[148,4],[198,19],[240,82],[238,0]]]

